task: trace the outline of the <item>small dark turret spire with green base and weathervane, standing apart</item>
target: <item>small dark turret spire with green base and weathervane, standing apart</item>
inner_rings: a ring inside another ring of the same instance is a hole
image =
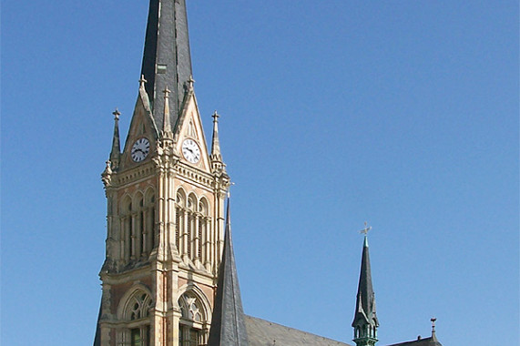
[[[362,268],[352,327],[354,328],[353,341],[357,346],[375,345],[377,342],[377,327],[379,327],[379,321],[375,314],[375,294],[372,288],[372,274],[366,234],[363,242]]]

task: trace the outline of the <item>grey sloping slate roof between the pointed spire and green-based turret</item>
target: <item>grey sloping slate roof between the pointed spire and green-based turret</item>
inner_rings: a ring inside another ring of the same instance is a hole
[[[350,346],[348,343],[295,330],[256,317],[245,316],[245,321],[250,346]]]

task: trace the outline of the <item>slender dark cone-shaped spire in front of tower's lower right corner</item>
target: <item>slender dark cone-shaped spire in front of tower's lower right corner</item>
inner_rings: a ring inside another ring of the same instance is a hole
[[[208,346],[248,346],[248,334],[244,320],[244,310],[240,298],[239,277],[235,266],[231,221],[229,218],[229,198],[226,215],[224,250],[219,266],[217,295],[213,305],[213,317],[209,330]]]

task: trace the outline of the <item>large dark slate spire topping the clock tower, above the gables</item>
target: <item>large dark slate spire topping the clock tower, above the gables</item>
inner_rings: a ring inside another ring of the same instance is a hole
[[[150,0],[141,75],[148,81],[146,90],[159,129],[163,127],[161,94],[171,88],[170,123],[175,124],[192,75],[185,0]]]

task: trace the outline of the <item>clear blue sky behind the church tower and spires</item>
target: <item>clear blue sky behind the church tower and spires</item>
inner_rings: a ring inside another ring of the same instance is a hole
[[[515,344],[518,3],[188,2],[246,313],[350,342],[367,220],[379,345]],[[147,11],[2,2],[2,344],[92,344]]]

